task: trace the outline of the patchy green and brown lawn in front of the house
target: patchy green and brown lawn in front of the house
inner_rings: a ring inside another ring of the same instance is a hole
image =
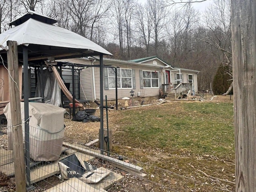
[[[99,113],[97,110],[96,115]],[[112,152],[140,161],[148,180],[174,191],[234,191],[230,183],[234,182],[235,164],[230,96],[114,110],[108,120]],[[100,122],[65,121],[66,141],[86,144],[98,138]],[[135,191],[164,190],[143,184]]]

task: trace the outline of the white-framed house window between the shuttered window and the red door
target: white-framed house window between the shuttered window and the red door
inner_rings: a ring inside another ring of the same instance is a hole
[[[143,87],[159,87],[159,72],[143,71]]]

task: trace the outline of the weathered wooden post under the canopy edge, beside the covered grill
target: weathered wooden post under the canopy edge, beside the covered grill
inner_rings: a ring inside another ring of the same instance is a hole
[[[11,129],[13,140],[13,162],[15,171],[16,191],[26,192],[25,162],[22,136],[22,122],[20,113],[20,91],[18,74],[18,48],[16,41],[8,41],[7,52],[11,108]],[[12,78],[11,78],[11,77]]]

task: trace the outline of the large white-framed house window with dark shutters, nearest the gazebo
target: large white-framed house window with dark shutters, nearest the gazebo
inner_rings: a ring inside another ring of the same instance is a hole
[[[115,69],[108,68],[108,84],[109,88],[116,88]],[[117,68],[117,87],[132,88],[132,70]]]

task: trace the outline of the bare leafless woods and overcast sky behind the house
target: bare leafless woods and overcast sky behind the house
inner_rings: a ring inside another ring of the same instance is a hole
[[[171,66],[199,70],[198,90],[206,90],[220,65],[232,79],[230,0],[214,0],[204,12],[194,1],[0,0],[0,33],[11,20],[35,10],[106,48],[113,58],[156,55]]]

